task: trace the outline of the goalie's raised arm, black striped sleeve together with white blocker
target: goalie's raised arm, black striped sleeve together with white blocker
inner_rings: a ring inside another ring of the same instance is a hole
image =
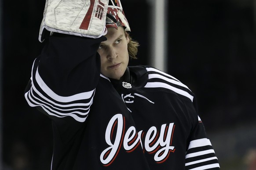
[[[46,2],[39,35],[45,46],[33,63],[25,97],[49,117],[84,122],[100,76],[96,51],[106,40],[108,0],[79,2]],[[45,38],[48,31],[51,36]]]

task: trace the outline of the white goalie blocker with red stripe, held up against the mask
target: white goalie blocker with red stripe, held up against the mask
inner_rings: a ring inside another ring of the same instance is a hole
[[[99,38],[106,35],[109,0],[46,0],[39,41],[45,31]]]

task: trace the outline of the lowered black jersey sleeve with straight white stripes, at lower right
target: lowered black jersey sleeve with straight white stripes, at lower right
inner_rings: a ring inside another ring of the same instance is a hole
[[[195,98],[193,103],[195,110],[197,110]],[[194,114],[192,120],[194,126],[187,141],[186,170],[219,170],[215,151],[210,140],[206,137],[205,127],[197,113]]]

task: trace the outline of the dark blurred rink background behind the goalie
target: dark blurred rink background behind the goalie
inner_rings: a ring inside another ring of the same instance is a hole
[[[152,25],[162,21],[165,53],[155,57],[197,96],[221,170],[256,170],[256,0],[165,0],[155,20],[160,1],[122,0],[141,44],[130,65],[154,65]],[[44,44],[44,4],[0,1],[0,170],[50,170],[51,121],[23,96]]]

